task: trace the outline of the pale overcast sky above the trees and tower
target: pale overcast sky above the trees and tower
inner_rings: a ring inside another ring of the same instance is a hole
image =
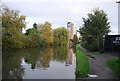
[[[110,34],[118,34],[118,0],[2,0],[2,3],[10,9],[19,10],[26,16],[27,28],[33,24],[43,24],[46,21],[52,23],[52,28],[67,27],[67,22],[75,23],[78,30],[82,24],[82,18],[92,9],[102,9],[108,14],[110,22]],[[25,30],[23,30],[25,32]]]

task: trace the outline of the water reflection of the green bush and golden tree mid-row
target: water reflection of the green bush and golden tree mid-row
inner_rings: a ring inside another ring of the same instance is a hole
[[[51,61],[52,49],[51,48],[35,48],[25,52],[25,62],[31,64],[31,69],[35,68],[48,68]]]

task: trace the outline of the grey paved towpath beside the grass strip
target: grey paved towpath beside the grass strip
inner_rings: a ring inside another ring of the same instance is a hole
[[[106,61],[117,56],[109,54],[91,54],[88,50],[80,48],[86,53],[89,58],[91,74],[98,77],[96,79],[117,79],[115,73],[109,68]],[[89,77],[87,79],[90,79]]]

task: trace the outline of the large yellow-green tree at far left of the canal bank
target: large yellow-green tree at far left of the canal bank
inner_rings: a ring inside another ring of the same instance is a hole
[[[22,48],[23,35],[22,29],[25,28],[25,16],[19,14],[17,10],[3,8],[2,11],[2,47],[3,49],[9,48]]]

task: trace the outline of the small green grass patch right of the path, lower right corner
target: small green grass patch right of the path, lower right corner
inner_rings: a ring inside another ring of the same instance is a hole
[[[108,60],[107,64],[115,72],[117,77],[120,78],[120,57]]]

